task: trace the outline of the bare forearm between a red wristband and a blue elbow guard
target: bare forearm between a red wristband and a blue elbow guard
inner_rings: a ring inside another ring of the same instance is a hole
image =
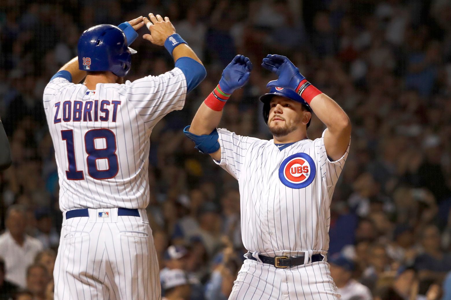
[[[222,110],[214,111],[205,103],[202,103],[191,122],[189,132],[197,135],[209,134],[218,127],[221,116]]]

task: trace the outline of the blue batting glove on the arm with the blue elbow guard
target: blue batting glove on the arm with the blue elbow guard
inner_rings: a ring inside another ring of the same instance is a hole
[[[226,94],[232,94],[234,90],[244,86],[251,75],[252,63],[244,55],[237,55],[231,63],[222,71],[219,81],[221,90]]]

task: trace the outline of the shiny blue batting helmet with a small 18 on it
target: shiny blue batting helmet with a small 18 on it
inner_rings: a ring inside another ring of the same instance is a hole
[[[124,32],[102,24],[84,31],[78,40],[78,68],[83,71],[110,71],[124,77],[131,67],[131,54]]]

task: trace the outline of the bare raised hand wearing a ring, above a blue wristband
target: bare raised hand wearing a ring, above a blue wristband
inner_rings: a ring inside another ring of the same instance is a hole
[[[143,38],[155,45],[165,45],[166,39],[175,33],[174,25],[172,25],[168,17],[163,19],[159,14],[154,16],[153,13],[149,13],[149,19],[143,18],[150,31],[150,34],[145,34]]]

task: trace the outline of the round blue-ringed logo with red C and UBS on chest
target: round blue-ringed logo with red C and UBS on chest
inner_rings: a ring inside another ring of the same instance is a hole
[[[307,153],[290,155],[279,167],[279,179],[289,188],[305,188],[312,183],[315,175],[315,162]]]

